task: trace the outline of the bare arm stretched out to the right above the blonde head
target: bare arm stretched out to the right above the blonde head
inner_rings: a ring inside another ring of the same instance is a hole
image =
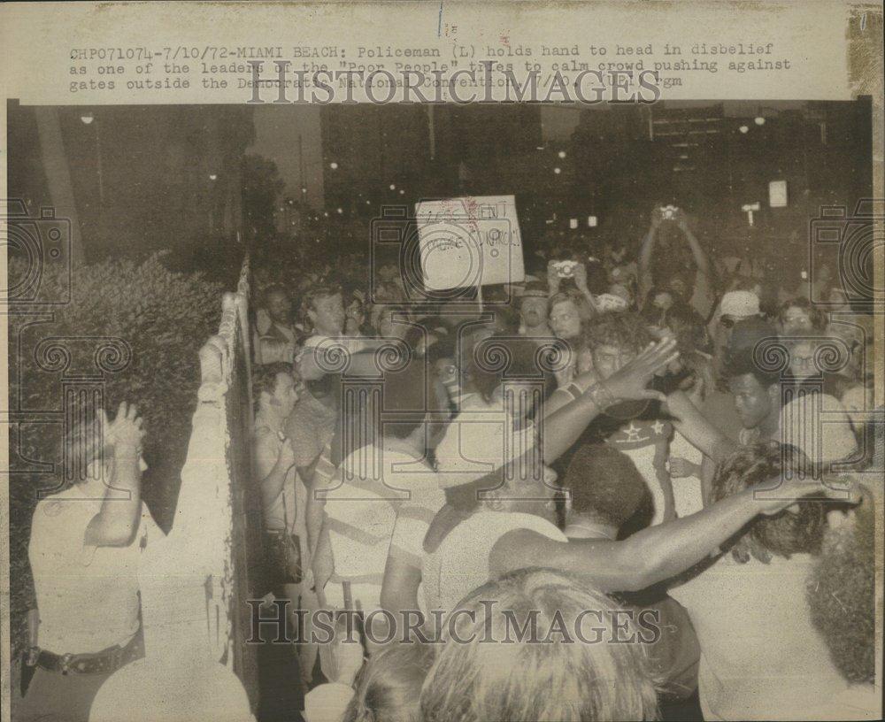
[[[744,489],[703,511],[650,526],[622,542],[555,542],[519,529],[496,542],[489,569],[498,575],[527,566],[547,566],[580,574],[604,592],[639,591],[703,561],[758,514],[776,514],[812,493],[839,499],[844,495],[844,489],[831,489],[820,480],[800,480],[797,476],[783,482],[778,499],[760,498],[762,491]]]

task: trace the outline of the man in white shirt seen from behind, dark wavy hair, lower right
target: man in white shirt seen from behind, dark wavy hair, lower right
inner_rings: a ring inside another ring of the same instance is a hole
[[[810,474],[807,465],[776,442],[743,447],[720,465],[714,501],[765,484],[774,497],[791,475]],[[705,719],[843,718],[822,712],[846,684],[805,591],[826,525],[825,503],[793,504],[754,519],[688,580],[673,581],[670,595],[689,611],[701,644]]]

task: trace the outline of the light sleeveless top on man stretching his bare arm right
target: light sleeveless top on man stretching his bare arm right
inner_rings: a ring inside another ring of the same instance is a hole
[[[449,613],[473,589],[491,580],[489,557],[495,543],[508,532],[528,529],[556,542],[566,535],[547,519],[519,511],[478,511],[446,535],[440,546],[424,555],[424,611]]]

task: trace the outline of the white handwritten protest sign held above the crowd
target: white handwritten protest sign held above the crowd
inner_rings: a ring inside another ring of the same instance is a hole
[[[525,279],[513,196],[424,201],[415,208],[428,290],[518,283]]]

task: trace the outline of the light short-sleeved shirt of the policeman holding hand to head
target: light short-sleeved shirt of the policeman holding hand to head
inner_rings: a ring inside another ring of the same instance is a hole
[[[89,522],[101,499],[72,487],[37,504],[28,557],[40,626],[37,646],[55,654],[86,654],[125,646],[138,631],[139,559],[163,532],[142,502],[142,518],[127,547],[88,547]]]

